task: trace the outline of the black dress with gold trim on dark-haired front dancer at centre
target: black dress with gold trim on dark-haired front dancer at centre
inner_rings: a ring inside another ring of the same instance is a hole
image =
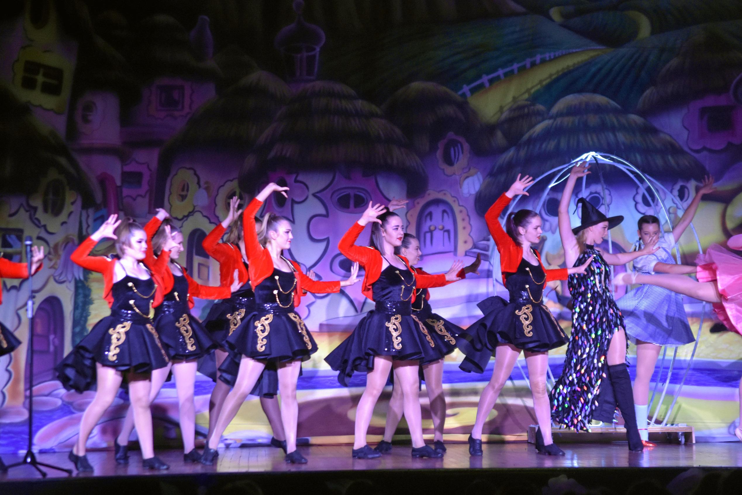
[[[410,301],[415,291],[413,273],[391,264],[372,283],[375,309],[325,358],[338,372],[341,384],[347,386],[355,371],[373,370],[377,355],[420,364],[438,361],[444,355],[431,332],[413,315]]]

